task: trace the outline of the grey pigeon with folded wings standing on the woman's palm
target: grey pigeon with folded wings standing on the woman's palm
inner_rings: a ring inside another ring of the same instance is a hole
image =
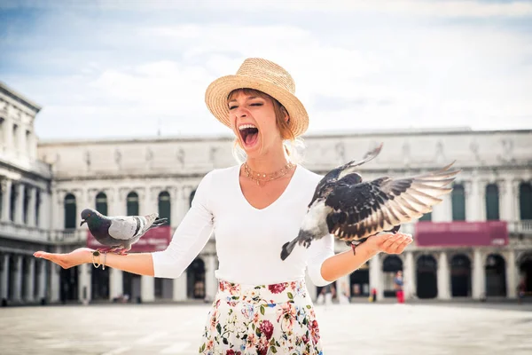
[[[159,218],[158,213],[146,216],[106,217],[95,209],[83,209],[80,226],[87,223],[94,238],[108,247],[98,248],[98,251],[118,251],[118,254],[126,255],[131,245],[148,230],[166,222],[168,218]]]

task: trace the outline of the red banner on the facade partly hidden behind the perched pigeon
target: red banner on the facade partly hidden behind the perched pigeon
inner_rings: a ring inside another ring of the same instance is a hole
[[[164,250],[168,247],[172,239],[172,229],[168,225],[162,225],[157,228],[150,229],[145,233],[137,243],[131,246],[129,253],[150,253],[153,251]],[[87,229],[87,248],[106,248],[106,246],[99,243],[89,229]]]

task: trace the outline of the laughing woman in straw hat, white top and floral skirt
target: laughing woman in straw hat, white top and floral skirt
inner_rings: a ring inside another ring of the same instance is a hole
[[[294,160],[293,143],[307,130],[305,107],[294,95],[292,77],[264,59],[246,59],[237,75],[207,88],[207,107],[231,128],[244,163],[207,173],[168,248],[154,253],[109,254],[93,260],[92,250],[69,254],[36,252],[62,267],[82,263],[160,278],[185,271],[214,231],[218,292],[200,353],[320,354],[322,343],[305,269],[317,286],[355,271],[379,252],[401,253],[411,236],[374,236],[356,255],[334,255],[332,235],[285,260],[281,247],[297,235],[320,176]]]

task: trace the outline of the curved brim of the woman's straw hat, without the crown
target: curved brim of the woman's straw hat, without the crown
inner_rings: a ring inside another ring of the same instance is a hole
[[[301,136],[309,128],[309,114],[305,106],[290,91],[280,89],[276,84],[266,80],[244,75],[226,75],[210,83],[205,92],[205,103],[211,114],[227,127],[231,128],[227,97],[236,89],[254,89],[262,91],[285,106],[290,115],[288,128],[294,137]]]

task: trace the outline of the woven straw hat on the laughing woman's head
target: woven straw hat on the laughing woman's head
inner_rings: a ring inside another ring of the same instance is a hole
[[[295,83],[292,76],[270,60],[249,58],[239,67],[236,75],[227,75],[208,85],[205,103],[218,121],[231,128],[227,98],[235,89],[254,89],[277,99],[290,115],[288,127],[295,137],[309,128],[309,114],[305,106],[295,97]]]

